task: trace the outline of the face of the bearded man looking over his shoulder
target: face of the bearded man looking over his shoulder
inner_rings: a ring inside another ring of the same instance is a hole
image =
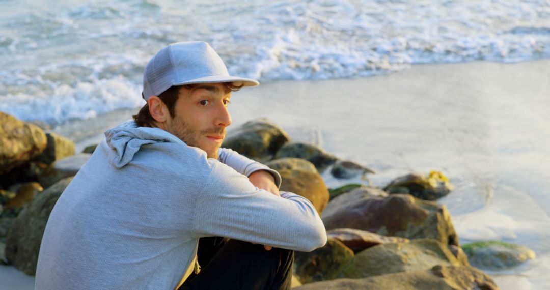
[[[231,124],[227,110],[231,91],[221,83],[197,85],[189,90],[180,88],[175,103],[174,118],[167,121],[167,131],[189,146],[198,147],[208,158],[218,158],[218,149]]]

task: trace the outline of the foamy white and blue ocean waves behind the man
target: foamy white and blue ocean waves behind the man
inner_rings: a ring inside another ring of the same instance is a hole
[[[327,80],[550,57],[550,0],[0,0],[0,110],[59,124],[144,104],[158,49],[204,40],[232,74]]]

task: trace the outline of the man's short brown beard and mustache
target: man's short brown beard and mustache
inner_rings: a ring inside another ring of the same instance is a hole
[[[188,122],[186,122],[182,118],[179,118],[178,116],[174,117],[172,121],[172,125],[169,128],[168,132],[178,137],[180,140],[185,142],[185,144],[188,144],[188,146],[193,146],[204,150],[208,158],[215,158],[215,159],[218,159],[219,146],[213,149],[202,148],[200,147],[201,138],[207,135],[226,136],[225,128],[211,128],[207,130],[196,130],[196,129],[193,129],[188,124]]]

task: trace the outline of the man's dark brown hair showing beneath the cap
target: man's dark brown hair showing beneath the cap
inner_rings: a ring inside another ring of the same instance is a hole
[[[174,118],[175,116],[175,102],[178,101],[179,97],[179,89],[182,87],[185,87],[188,90],[193,89],[194,87],[204,85],[200,83],[194,83],[191,85],[183,85],[183,86],[172,86],[169,87],[168,90],[160,93],[158,95],[158,98],[161,99],[161,101],[168,107],[168,113],[170,113],[170,116]],[[226,91],[232,91],[236,92],[239,91],[241,86],[234,86],[232,82],[222,82],[222,85],[226,87]],[[142,97],[143,94],[142,94]],[[145,98],[145,97],[144,97]],[[153,122],[155,119],[153,119],[153,116],[151,116],[151,113],[149,111],[149,104],[145,104],[138,112],[138,114],[133,115],[132,118],[134,118],[134,121],[138,126],[140,127],[152,127]]]

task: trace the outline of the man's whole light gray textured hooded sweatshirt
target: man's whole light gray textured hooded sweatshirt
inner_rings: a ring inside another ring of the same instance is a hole
[[[238,170],[263,166],[234,154],[220,155]],[[243,173],[161,129],[107,131],[52,210],[35,288],[173,289],[200,237],[306,252],[326,243],[308,200],[274,196]]]

